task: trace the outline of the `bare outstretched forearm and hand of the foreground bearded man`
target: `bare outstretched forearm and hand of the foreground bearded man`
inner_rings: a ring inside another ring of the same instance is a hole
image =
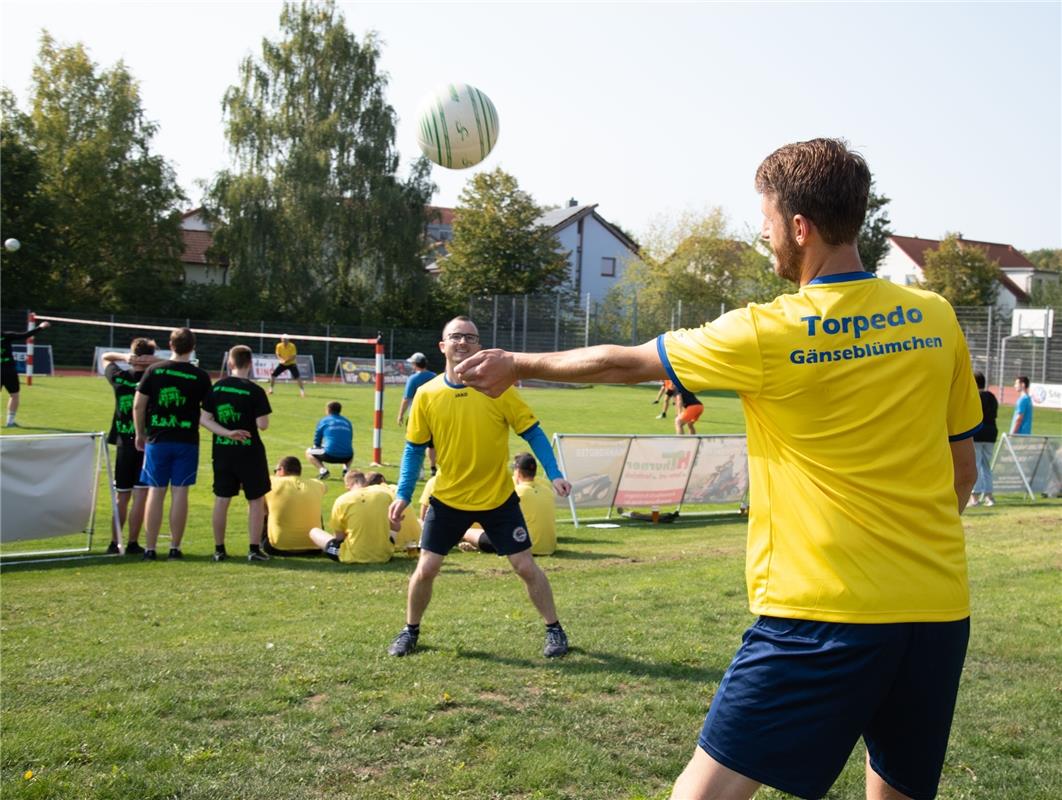
[[[461,382],[491,397],[526,378],[564,384],[640,384],[667,377],[655,339],[636,347],[598,344],[563,353],[483,350],[455,369]]]

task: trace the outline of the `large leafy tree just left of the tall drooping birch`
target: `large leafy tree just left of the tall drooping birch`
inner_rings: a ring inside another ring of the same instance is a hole
[[[151,152],[157,125],[144,117],[138,83],[121,62],[100,70],[84,46],[62,47],[45,32],[31,91],[28,115],[5,98],[4,138],[17,131],[10,163],[25,187],[36,185],[16,197],[32,198],[41,215],[23,235],[49,292],[37,302],[125,311],[150,293],[165,303],[183,274],[184,195]]]

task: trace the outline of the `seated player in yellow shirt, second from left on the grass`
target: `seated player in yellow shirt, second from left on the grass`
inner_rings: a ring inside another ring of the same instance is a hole
[[[321,528],[310,539],[332,561],[344,564],[383,564],[394,552],[394,534],[388,520],[391,494],[371,487],[365,475],[350,470],[343,476],[346,492],[332,504],[329,533]]]

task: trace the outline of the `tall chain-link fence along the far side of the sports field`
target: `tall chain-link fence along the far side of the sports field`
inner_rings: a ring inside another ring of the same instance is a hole
[[[678,303],[671,311],[669,327],[696,326],[715,319],[726,310],[719,308],[684,308]],[[103,323],[158,325],[165,328],[188,325],[192,328],[245,331],[242,336],[201,335],[196,353],[200,362],[211,371],[219,370],[222,357],[232,345],[246,344],[258,353],[272,353],[275,339],[258,334],[286,333],[299,336],[349,338],[382,337],[388,358],[407,358],[414,352],[428,357],[431,369],[443,368],[435,328],[376,328],[352,325],[298,324],[269,320],[192,320],[172,317],[86,314],[83,312],[38,311],[55,317],[71,317]],[[468,316],[479,326],[483,346],[523,352],[570,350],[590,344],[638,344],[662,333],[639,324],[637,299],[628,307],[617,308],[596,303],[588,296],[581,300],[565,294],[491,295],[468,301]],[[1012,336],[1011,312],[997,308],[957,308],[959,324],[966,336],[974,369],[984,373],[994,386],[1010,386],[1017,375],[1028,375],[1033,382],[1062,382],[1062,343],[1059,337]],[[23,330],[24,310],[0,312],[4,330]],[[92,365],[97,346],[123,350],[140,335],[155,338],[165,346],[166,331],[56,323],[37,338],[40,344],[51,344],[55,364],[61,369],[84,369]],[[297,341],[303,355],[312,355],[319,375],[330,375],[339,356],[371,357],[366,345],[341,342]]]

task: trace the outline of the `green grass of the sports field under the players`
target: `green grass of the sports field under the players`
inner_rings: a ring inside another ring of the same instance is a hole
[[[371,454],[371,392],[274,397],[270,458],[301,454],[340,399]],[[528,390],[547,432],[669,432],[654,390]],[[740,432],[705,395],[702,432]],[[22,431],[105,429],[102,379],[23,389]],[[389,392],[384,473],[401,431]],[[1000,410],[1000,420],[1010,409]],[[1038,410],[1039,432],[1062,414]],[[523,448],[515,437],[511,447]],[[751,622],[744,525],[683,518],[560,526],[541,563],[573,650],[541,657],[542,624],[503,561],[455,554],[421,651],[391,659],[413,562],[209,561],[209,448],[183,562],[5,564],[0,583],[0,793],[12,798],[662,798]],[[325,509],[339,494],[330,481]],[[106,543],[101,498],[95,549]],[[229,551],[242,550],[233,504]],[[940,797],[1062,795],[1062,501],[1003,497],[964,517],[973,640]],[[73,543],[73,540],[64,540]],[[781,798],[764,789],[760,798]],[[862,797],[861,753],[830,798]]]

